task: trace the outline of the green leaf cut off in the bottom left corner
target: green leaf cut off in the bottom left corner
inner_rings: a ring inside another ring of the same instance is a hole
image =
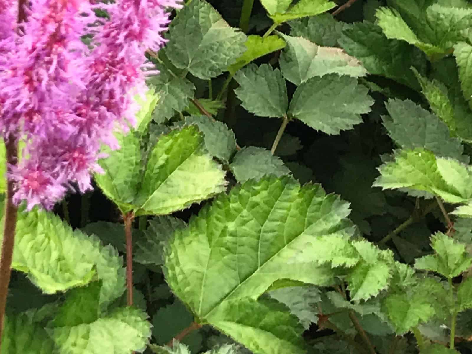
[[[26,313],[7,316],[1,339],[5,354],[51,354],[57,349],[46,330]]]

